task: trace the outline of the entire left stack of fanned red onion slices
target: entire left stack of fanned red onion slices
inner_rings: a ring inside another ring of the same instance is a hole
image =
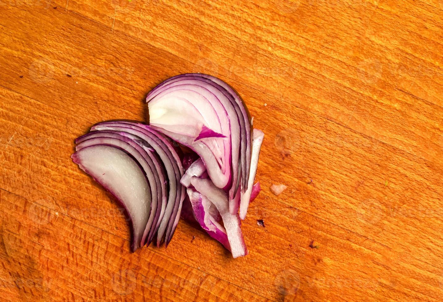
[[[180,184],[183,167],[171,141],[147,125],[127,121],[99,123],[91,130],[76,139],[72,158],[127,209],[134,221],[132,251],[149,245],[155,236],[157,246],[163,240],[169,244],[185,196]],[[103,169],[114,172],[102,173]]]

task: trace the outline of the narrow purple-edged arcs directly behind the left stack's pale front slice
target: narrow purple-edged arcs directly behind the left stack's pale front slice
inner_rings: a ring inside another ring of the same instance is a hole
[[[148,178],[152,193],[151,213],[149,215],[149,220],[146,225],[143,238],[140,242],[140,246],[143,246],[144,244],[150,244],[150,241],[148,241],[148,235],[156,232],[155,226],[159,220],[161,206],[163,203],[163,195],[165,192],[162,192],[164,188],[160,184],[161,176],[158,174],[158,170],[155,168],[156,164],[158,165],[158,163],[154,163],[152,160],[153,156],[149,154],[152,153],[153,149],[142,148],[140,144],[136,143],[139,140],[140,138],[138,136],[133,136],[126,132],[95,131],[89,132],[88,134],[76,139],[76,143],[78,143],[76,150],[78,151],[84,147],[93,145],[116,147],[127,152],[140,164],[140,166],[142,166]],[[157,160],[155,159],[155,161]],[[166,203],[166,201],[164,202]]]

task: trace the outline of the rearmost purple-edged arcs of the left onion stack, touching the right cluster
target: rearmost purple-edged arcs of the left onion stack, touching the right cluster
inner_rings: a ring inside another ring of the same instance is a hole
[[[115,130],[131,133],[148,142],[159,155],[167,172],[169,180],[169,195],[163,217],[158,222],[157,246],[160,246],[163,239],[166,245],[169,244],[178,224],[180,210],[185,195],[185,188],[180,184],[180,179],[183,176],[183,167],[171,142],[148,125],[127,121],[103,122],[93,126],[91,130]],[[150,239],[152,238],[149,238],[148,240]]]

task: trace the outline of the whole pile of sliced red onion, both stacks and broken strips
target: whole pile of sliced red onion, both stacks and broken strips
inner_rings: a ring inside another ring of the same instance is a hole
[[[132,225],[133,250],[149,245],[155,235],[157,246],[163,241],[169,244],[186,195],[183,217],[195,219],[234,258],[245,256],[241,219],[260,192],[254,179],[264,137],[260,130],[252,131],[253,119],[245,103],[231,86],[206,74],[171,77],[148,94],[147,102],[149,126],[129,121],[99,123],[77,139],[74,161],[84,170],[91,167],[88,173],[116,195],[137,222]],[[171,139],[190,153],[183,155]],[[99,159],[96,148],[106,148],[104,158]],[[118,159],[115,163],[109,160],[111,155]],[[99,164],[105,161],[111,166],[107,169],[120,174],[98,175],[93,159]],[[132,191],[121,184],[128,179],[124,169],[134,177]],[[145,205],[135,194],[139,190],[149,200],[144,211],[136,208]],[[144,227],[139,223],[142,218]]]

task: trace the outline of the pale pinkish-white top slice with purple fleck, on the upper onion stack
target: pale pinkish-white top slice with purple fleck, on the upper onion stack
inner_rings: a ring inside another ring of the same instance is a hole
[[[232,186],[236,179],[232,179],[230,169],[231,148],[236,146],[231,143],[228,108],[216,94],[202,85],[177,85],[165,88],[149,101],[148,106],[151,127],[166,131],[167,136],[195,150],[208,167],[208,174],[216,186]],[[178,124],[183,120],[195,129],[193,133],[183,133],[183,124]],[[224,137],[205,135],[208,133],[219,133]],[[204,139],[198,139],[200,136]],[[237,143],[237,152],[238,147]]]

